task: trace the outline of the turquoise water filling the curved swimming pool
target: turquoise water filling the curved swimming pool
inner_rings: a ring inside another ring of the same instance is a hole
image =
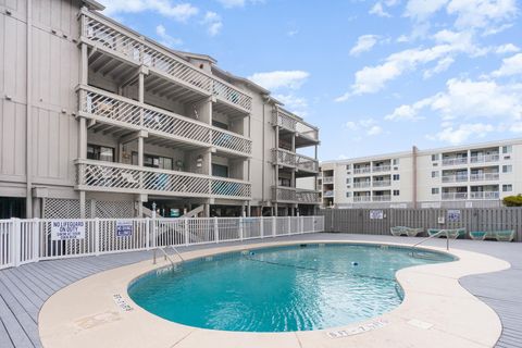
[[[301,245],[234,252],[151,272],[130,298],[166,320],[241,332],[309,331],[381,315],[402,301],[395,273],[449,254],[364,245]]]

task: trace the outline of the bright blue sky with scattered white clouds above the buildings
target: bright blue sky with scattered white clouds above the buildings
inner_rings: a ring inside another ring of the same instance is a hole
[[[522,137],[521,0],[101,0],[320,127],[321,160]]]

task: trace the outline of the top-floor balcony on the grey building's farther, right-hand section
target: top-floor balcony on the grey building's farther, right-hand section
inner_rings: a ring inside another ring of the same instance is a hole
[[[278,108],[272,116],[272,125],[296,134],[296,147],[304,147],[319,144],[318,128],[298,120],[291,113]]]

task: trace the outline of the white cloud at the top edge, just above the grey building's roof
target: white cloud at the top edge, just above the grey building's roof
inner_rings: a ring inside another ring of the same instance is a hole
[[[170,0],[102,0],[101,2],[105,7],[103,13],[107,15],[153,11],[175,21],[186,22],[199,12],[198,8],[188,2],[173,4]]]

